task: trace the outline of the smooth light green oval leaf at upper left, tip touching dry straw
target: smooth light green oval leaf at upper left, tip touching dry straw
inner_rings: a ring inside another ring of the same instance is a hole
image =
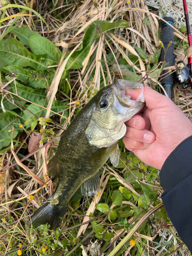
[[[62,53],[49,39],[40,35],[29,38],[29,47],[34,54],[47,54],[48,58],[59,62]]]

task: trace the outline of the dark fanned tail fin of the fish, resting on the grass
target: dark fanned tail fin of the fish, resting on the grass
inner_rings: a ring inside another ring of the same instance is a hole
[[[50,224],[50,229],[55,230],[59,227],[61,219],[66,213],[67,206],[63,207],[61,205],[53,205],[47,202],[41,205],[31,217],[32,225],[37,227],[41,224]]]

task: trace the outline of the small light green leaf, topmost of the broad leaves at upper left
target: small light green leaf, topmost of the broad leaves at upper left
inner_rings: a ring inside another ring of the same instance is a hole
[[[11,33],[15,34],[24,46],[29,46],[29,38],[31,36],[39,35],[37,32],[35,32],[31,29],[28,29],[25,27],[17,28],[16,26],[14,26],[11,29]]]

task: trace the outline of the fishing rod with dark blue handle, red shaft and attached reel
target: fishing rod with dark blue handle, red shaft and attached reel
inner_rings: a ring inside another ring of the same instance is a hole
[[[183,0],[183,9],[188,37],[187,65],[181,60],[177,61],[175,64],[176,55],[174,54],[174,29],[168,25],[170,24],[174,26],[174,20],[169,12],[167,12],[164,16],[164,20],[168,24],[164,21],[161,23],[161,40],[163,42],[164,48],[161,50],[160,61],[165,61],[168,63],[169,67],[174,67],[173,72],[170,74],[168,74],[168,69],[165,68],[161,76],[161,84],[170,99],[172,99],[174,80],[181,84],[183,88],[190,87],[192,89],[192,37],[186,0]],[[170,45],[170,41],[172,41],[172,45]]]

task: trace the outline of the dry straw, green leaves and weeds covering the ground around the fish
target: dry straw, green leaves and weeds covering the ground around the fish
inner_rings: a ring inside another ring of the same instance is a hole
[[[60,136],[99,89],[117,77],[163,92],[158,11],[144,0],[0,1],[0,255],[190,254],[162,205],[159,170],[122,140],[96,196],[78,190],[56,231],[30,222],[56,187],[47,162]],[[185,30],[175,29],[176,61],[186,62]],[[173,100],[191,120],[191,91],[175,84]]]

